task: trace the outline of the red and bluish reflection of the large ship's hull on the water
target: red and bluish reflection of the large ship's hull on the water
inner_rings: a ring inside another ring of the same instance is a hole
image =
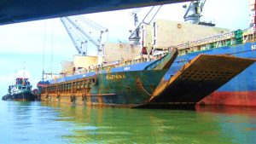
[[[232,143],[255,143],[256,107],[196,107],[197,112],[212,114],[221,135]]]

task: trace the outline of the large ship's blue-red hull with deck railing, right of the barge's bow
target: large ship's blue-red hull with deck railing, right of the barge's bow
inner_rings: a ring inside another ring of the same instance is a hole
[[[194,42],[178,44],[180,55],[174,61],[169,73],[177,72],[185,63],[201,54],[234,55],[241,58],[256,59],[256,42],[253,27],[237,30],[214,37],[199,39]],[[212,92],[199,104],[256,106],[256,64],[249,66],[230,82]]]

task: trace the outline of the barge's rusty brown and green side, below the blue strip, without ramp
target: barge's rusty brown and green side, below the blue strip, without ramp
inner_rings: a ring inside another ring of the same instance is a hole
[[[111,72],[58,85],[51,84],[43,87],[41,101],[102,107],[136,107],[148,102],[166,71]]]

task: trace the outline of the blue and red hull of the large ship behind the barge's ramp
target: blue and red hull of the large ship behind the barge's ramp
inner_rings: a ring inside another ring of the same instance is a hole
[[[242,43],[234,46],[224,46],[178,56],[167,72],[166,78],[174,75],[189,60],[200,54],[234,55],[241,58],[256,59],[256,43]],[[256,106],[256,63],[249,66],[230,82],[224,84],[201,103],[236,106]]]

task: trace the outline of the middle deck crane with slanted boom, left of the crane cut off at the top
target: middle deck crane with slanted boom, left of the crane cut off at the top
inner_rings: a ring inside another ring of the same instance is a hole
[[[148,13],[144,16],[142,21],[138,20],[137,14],[143,9],[143,8],[138,8],[135,9],[131,12],[131,14],[133,15],[133,19],[134,19],[134,26],[135,28],[130,31],[131,35],[129,37],[129,41],[133,42],[135,44],[139,44],[140,41],[140,36],[139,36],[139,32],[141,30],[141,26],[142,24],[146,24],[149,25],[151,23],[151,21],[154,19],[154,16],[159,12],[160,8],[162,7],[162,5],[160,6],[153,6],[149,9]],[[148,21],[146,21],[148,20]]]

